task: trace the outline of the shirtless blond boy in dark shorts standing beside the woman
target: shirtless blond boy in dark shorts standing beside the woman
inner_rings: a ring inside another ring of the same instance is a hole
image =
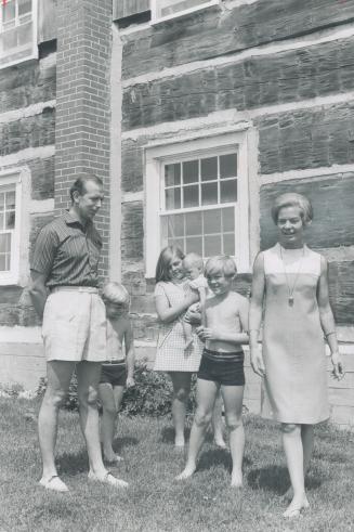
[[[195,472],[218,390],[221,389],[233,460],[231,484],[240,488],[245,446],[241,420],[245,386],[241,345],[248,343],[248,301],[232,291],[236,264],[231,257],[219,256],[209,259],[205,275],[213,296],[208,297],[206,301],[206,326],[197,329],[199,338],[206,342],[206,348],[198,372],[197,410],[191,431],[187,463],[176,478],[187,479]]]

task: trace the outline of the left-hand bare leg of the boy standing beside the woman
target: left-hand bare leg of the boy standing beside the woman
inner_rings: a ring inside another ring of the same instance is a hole
[[[204,379],[197,380],[197,410],[191,430],[188,457],[185,468],[176,477],[178,480],[192,477],[197,468],[197,457],[204,443],[208,425],[211,421],[217,393],[218,385],[215,382]]]

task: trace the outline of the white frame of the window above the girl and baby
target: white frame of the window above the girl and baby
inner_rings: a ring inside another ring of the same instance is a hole
[[[160,217],[163,207],[163,165],[176,160],[194,157],[212,156],[225,153],[227,150],[237,151],[237,203],[235,205],[236,228],[236,261],[238,272],[250,271],[249,254],[249,172],[248,172],[248,143],[245,131],[227,132],[218,135],[209,135],[202,139],[187,141],[171,140],[170,143],[145,146],[145,275],[155,277],[156,262],[160,252],[161,228]],[[205,206],[195,210],[207,210],[227,206],[227,204]]]

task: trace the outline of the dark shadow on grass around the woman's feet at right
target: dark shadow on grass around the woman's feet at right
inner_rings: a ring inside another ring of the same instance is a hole
[[[265,490],[283,495],[290,486],[290,478],[286,467],[266,466],[253,469],[247,476],[248,484],[252,490]],[[306,489],[316,490],[323,479],[310,477],[306,479]]]

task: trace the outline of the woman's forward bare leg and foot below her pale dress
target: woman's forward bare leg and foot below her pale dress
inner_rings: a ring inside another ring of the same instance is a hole
[[[291,480],[292,501],[284,517],[299,517],[302,508],[309,506],[304,484],[304,453],[301,439],[301,425],[281,424],[283,446]]]

